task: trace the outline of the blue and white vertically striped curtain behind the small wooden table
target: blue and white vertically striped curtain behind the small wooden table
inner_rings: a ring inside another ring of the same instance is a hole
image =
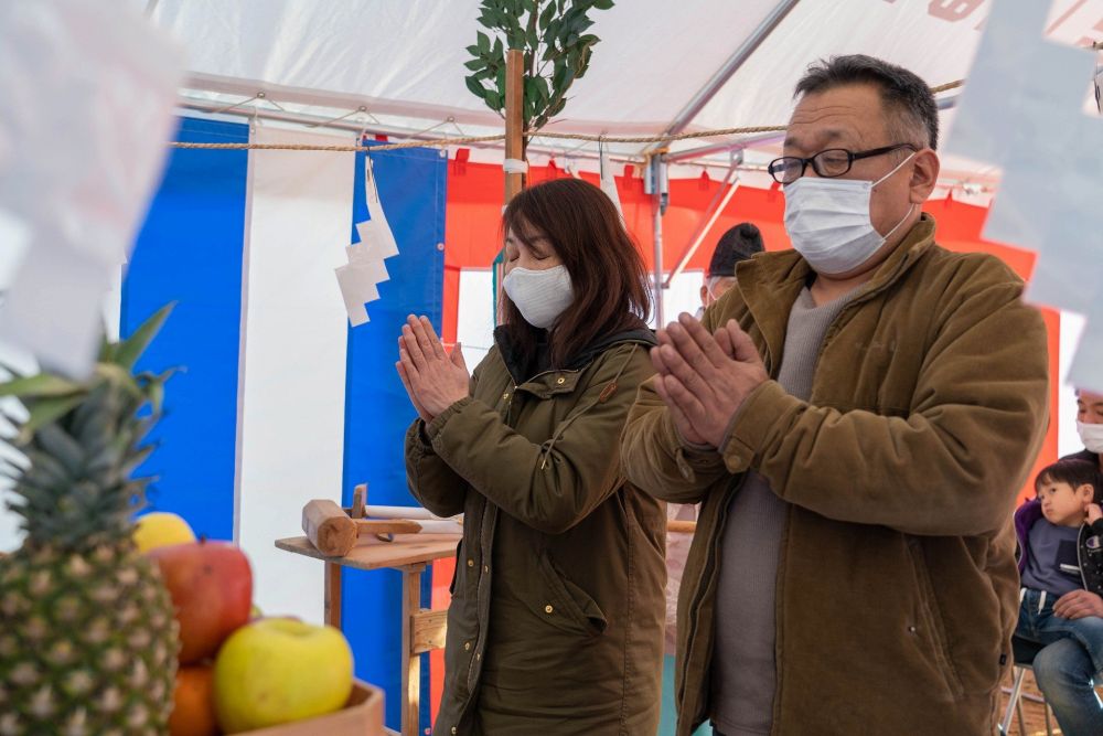
[[[176,139],[344,142],[194,118]],[[403,463],[414,412],[394,370],[396,338],[410,312],[439,329],[447,158],[409,149],[372,162],[400,253],[386,262],[390,278],[367,324],[349,327],[333,273],[368,218],[364,153],[175,150],[122,281],[122,334],[178,302],[140,366],[184,369],[168,384],[160,447],[141,469],[158,479],[151,509],[237,540],[266,615],[322,620],[323,565],[274,546],[301,534],[308,500],[347,504],[366,482],[373,503],[414,503]],[[345,575],[357,676],[393,693],[400,600],[398,573]],[[387,706],[397,725],[399,698]]]

